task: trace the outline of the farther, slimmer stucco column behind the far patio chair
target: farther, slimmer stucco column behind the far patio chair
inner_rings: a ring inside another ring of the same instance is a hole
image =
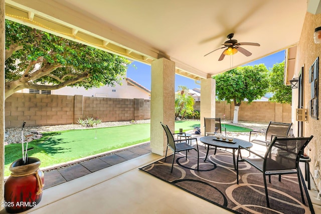
[[[215,80],[201,80],[201,133],[204,134],[204,117],[215,117]]]

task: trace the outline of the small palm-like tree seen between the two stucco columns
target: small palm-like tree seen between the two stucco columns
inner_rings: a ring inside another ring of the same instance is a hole
[[[179,86],[179,90],[175,95],[175,118],[185,117],[186,113],[191,114],[194,110],[194,98],[189,95],[186,86]]]

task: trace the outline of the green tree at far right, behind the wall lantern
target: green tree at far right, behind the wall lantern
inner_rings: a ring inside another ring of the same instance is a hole
[[[269,98],[271,102],[277,103],[291,103],[292,102],[292,89],[289,85],[284,85],[284,61],[273,65],[269,73],[269,91],[273,96]]]

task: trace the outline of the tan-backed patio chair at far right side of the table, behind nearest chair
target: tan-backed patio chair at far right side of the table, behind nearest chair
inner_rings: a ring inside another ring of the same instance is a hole
[[[273,139],[273,136],[287,136],[292,123],[279,123],[270,121],[266,131],[250,131],[249,141],[259,145],[268,146]],[[251,141],[252,133],[265,133],[265,140],[254,139]]]

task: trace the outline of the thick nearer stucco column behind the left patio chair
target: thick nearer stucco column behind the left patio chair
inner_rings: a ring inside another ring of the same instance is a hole
[[[163,122],[174,132],[175,127],[175,63],[158,59],[151,63],[150,95],[150,148],[151,152],[164,156],[167,137]]]

